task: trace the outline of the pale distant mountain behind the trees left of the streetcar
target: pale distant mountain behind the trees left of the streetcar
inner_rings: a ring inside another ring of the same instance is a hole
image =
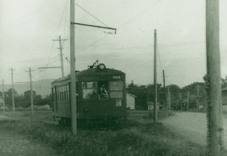
[[[33,90],[36,92],[36,94],[42,96],[49,95],[51,93],[51,82],[53,81],[54,79],[34,81],[32,83]],[[12,88],[11,84],[4,85],[5,91],[10,88]],[[14,88],[19,94],[24,94],[25,91],[30,90],[30,82],[15,83]]]

